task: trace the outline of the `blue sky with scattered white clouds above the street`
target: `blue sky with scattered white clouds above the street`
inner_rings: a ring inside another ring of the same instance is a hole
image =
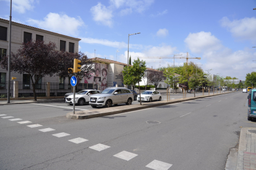
[[[245,80],[256,71],[254,8],[256,0],[12,0],[12,21],[80,38],[90,58],[127,63],[129,37],[132,61],[189,52],[205,73]],[[0,0],[0,18],[9,14],[10,1]],[[149,68],[186,62],[142,60]]]

